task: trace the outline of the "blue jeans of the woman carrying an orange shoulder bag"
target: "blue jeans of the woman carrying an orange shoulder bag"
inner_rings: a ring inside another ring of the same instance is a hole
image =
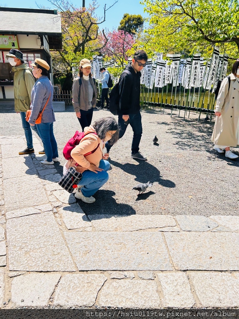
[[[36,124],[40,139],[42,140],[47,162],[58,157],[57,144],[53,133],[53,123]]]

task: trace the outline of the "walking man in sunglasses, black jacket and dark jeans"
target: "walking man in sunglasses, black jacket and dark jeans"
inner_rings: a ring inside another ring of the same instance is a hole
[[[128,64],[120,75],[120,111],[118,123],[120,125],[120,138],[125,134],[128,124],[133,129],[134,136],[131,146],[131,157],[146,160],[147,157],[139,152],[142,136],[142,122],[140,114],[140,77],[141,70],[145,67],[148,56],[145,51],[138,50],[134,53],[132,65]],[[107,152],[112,145],[106,142]]]

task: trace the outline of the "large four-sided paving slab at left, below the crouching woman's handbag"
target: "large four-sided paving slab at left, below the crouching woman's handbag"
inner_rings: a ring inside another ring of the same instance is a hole
[[[7,220],[9,270],[76,271],[53,213]]]

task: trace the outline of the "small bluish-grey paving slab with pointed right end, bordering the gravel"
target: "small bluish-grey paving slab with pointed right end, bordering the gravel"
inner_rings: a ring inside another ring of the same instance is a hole
[[[205,216],[177,215],[179,227],[184,231],[207,232],[218,226],[216,222]]]

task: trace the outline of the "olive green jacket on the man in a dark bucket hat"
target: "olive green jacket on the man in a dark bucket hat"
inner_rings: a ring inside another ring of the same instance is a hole
[[[14,72],[15,112],[26,112],[30,109],[31,92],[35,84],[35,79],[31,68],[26,64],[21,64],[17,67],[14,66],[12,72]]]

